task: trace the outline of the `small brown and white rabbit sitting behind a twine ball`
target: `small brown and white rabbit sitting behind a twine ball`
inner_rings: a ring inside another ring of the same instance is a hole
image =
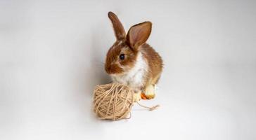
[[[113,24],[116,41],[105,58],[105,71],[113,83],[132,87],[134,92],[146,99],[155,97],[155,84],[162,73],[162,58],[146,43],[151,34],[151,22],[141,22],[132,26],[128,33],[113,12],[108,13]]]

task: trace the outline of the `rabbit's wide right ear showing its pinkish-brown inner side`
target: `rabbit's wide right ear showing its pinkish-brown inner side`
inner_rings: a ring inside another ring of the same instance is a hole
[[[151,35],[151,22],[142,22],[132,26],[127,34],[127,42],[134,50],[138,50],[139,46],[145,43]]]

